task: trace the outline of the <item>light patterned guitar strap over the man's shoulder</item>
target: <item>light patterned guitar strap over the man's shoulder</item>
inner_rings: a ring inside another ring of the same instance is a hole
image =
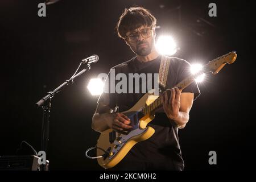
[[[160,67],[159,67],[159,85],[166,89],[166,81],[168,77],[168,71],[170,67],[171,57],[162,55]]]

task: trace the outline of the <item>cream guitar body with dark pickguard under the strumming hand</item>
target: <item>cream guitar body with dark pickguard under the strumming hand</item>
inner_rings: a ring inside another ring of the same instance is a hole
[[[148,100],[148,96],[150,95],[150,93],[144,94],[131,109],[122,112],[131,119],[131,126],[133,128],[129,133],[119,134],[112,129],[105,130],[101,133],[97,142],[97,156],[104,155],[104,157],[97,159],[101,167],[114,167],[136,143],[150,138],[155,133],[152,127],[147,127],[147,124],[154,119],[154,113],[147,115],[143,115],[142,113],[142,107],[154,101],[154,98]]]

